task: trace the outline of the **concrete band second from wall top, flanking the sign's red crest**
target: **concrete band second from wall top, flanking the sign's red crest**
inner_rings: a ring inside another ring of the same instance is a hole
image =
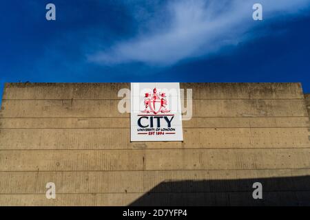
[[[118,100],[3,100],[2,118],[128,117]],[[194,117],[308,116],[304,100],[193,100]]]

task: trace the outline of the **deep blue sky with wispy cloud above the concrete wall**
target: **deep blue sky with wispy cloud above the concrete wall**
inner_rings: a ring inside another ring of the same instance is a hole
[[[46,21],[45,5],[56,5]],[[263,20],[252,19],[261,3]],[[301,82],[310,0],[4,0],[5,82]]]

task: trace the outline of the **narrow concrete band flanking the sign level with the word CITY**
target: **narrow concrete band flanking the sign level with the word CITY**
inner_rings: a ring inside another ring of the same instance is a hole
[[[302,128],[305,117],[192,118],[183,128]],[[130,129],[130,118],[0,118],[0,129]]]

